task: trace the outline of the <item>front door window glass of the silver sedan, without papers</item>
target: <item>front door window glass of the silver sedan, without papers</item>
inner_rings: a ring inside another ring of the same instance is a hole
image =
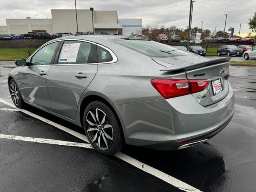
[[[59,42],[54,42],[40,49],[31,60],[31,65],[50,65],[52,56]]]

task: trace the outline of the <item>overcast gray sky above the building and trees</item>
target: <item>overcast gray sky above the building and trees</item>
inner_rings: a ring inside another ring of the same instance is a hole
[[[76,0],[77,9],[117,10],[118,18],[142,18],[142,25],[157,23],[166,27],[175,25],[187,28],[190,0]],[[0,0],[0,25],[6,18],[51,18],[51,9],[74,9],[74,0]],[[256,12],[256,0],[196,0],[192,27],[226,30],[234,27],[234,33],[248,34],[248,18]]]

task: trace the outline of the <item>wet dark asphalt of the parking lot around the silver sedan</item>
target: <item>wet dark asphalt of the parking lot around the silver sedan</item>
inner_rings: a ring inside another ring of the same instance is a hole
[[[90,148],[49,144],[51,140],[64,141],[67,145],[86,143],[49,122],[80,134],[84,134],[84,130],[31,106],[25,107],[26,114],[8,105],[12,101],[6,78],[12,67],[14,62],[0,62],[1,192],[255,192],[256,67],[230,66],[235,113],[230,124],[214,138],[178,151],[126,146],[122,153],[142,162],[140,169],[133,166],[136,162],[132,165],[125,159],[102,156]],[[42,138],[45,142],[14,140],[13,136]],[[146,165],[154,170],[151,174],[147,173]],[[158,178],[159,172],[167,174],[164,178],[174,185],[176,178],[195,190],[178,188],[180,183],[172,186]]]

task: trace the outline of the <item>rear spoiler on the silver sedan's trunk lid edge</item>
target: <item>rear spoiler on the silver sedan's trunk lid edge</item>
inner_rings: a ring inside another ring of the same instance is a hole
[[[212,59],[209,61],[204,61],[200,63],[194,63],[194,64],[186,64],[186,65],[180,65],[180,66],[171,66],[168,68],[164,68],[160,71],[166,71],[166,72],[178,72],[178,71],[188,71],[193,69],[198,69],[206,66],[216,65],[224,62],[228,62],[231,59],[231,57],[223,57],[223,58],[217,58]]]

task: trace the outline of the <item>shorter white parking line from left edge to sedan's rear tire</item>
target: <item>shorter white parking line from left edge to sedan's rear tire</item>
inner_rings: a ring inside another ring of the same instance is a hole
[[[18,141],[29,141],[29,142],[36,142],[36,143],[47,143],[47,144],[54,144],[54,145],[65,145],[65,146],[73,146],[73,147],[83,147],[83,148],[92,149],[92,146],[90,144],[87,144],[87,143],[77,143],[77,142],[54,140],[54,139],[23,137],[23,136],[4,135],[4,134],[0,134],[0,138],[12,139],[12,140],[18,140]]]

